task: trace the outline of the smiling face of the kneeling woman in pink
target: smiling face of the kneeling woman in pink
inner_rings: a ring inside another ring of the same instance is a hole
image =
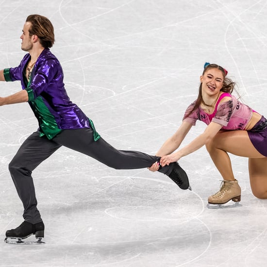
[[[210,96],[216,95],[220,92],[223,85],[223,74],[217,68],[209,68],[200,76],[200,83],[202,83],[202,92],[204,91]]]

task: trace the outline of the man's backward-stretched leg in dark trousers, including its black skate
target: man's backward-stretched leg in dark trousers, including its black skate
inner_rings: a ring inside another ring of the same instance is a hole
[[[160,160],[160,157],[140,151],[117,150],[102,138],[94,141],[92,129],[64,130],[53,140],[115,169],[146,168]],[[159,172],[166,174],[180,188],[190,189],[188,177],[178,163],[173,162],[169,166],[162,167]]]

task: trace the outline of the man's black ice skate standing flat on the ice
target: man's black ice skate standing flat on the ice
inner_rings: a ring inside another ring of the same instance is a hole
[[[42,241],[44,231],[45,225],[42,221],[35,224],[24,221],[16,229],[7,230],[4,241],[11,244],[44,244],[45,242]],[[22,239],[25,239],[32,234],[35,234],[35,238],[38,239],[37,241],[22,241]],[[17,239],[17,241],[14,241],[13,239]]]

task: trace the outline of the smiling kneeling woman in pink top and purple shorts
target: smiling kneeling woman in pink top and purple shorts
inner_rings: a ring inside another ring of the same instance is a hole
[[[241,199],[228,152],[249,158],[252,193],[267,199],[267,119],[232,95],[235,83],[226,75],[227,71],[217,64],[204,65],[197,100],[186,109],[177,132],[157,152],[161,166],[166,166],[205,145],[223,178],[219,191],[208,198],[208,203],[219,207],[229,200],[238,204]],[[175,151],[197,120],[207,124],[205,131]],[[158,170],[158,165],[153,164],[150,170]]]

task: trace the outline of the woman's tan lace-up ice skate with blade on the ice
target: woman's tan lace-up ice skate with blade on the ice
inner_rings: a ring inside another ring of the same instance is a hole
[[[222,205],[230,200],[233,200],[235,202],[234,205],[227,205],[227,206]],[[223,180],[220,185],[220,190],[216,194],[208,198],[207,207],[209,209],[240,207],[242,206],[241,204],[239,204],[240,200],[241,200],[241,188],[238,184],[238,181]],[[216,206],[211,206],[210,204],[215,204]]]

